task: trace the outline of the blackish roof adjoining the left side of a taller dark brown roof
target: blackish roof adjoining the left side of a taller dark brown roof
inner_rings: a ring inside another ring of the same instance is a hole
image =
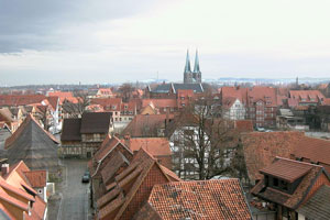
[[[81,141],[81,119],[64,119],[61,141]]]

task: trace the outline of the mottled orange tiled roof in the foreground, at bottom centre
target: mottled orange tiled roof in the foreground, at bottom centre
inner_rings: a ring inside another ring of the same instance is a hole
[[[239,179],[176,182],[155,185],[147,200],[163,220],[252,219]],[[151,211],[156,216],[154,211]],[[139,215],[143,215],[140,212]],[[146,217],[145,219],[151,219]]]

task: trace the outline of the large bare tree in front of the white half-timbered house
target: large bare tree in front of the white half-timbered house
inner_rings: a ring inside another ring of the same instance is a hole
[[[232,121],[221,118],[218,102],[211,94],[205,94],[172,125],[175,169],[180,177],[210,179],[230,173],[238,132]]]

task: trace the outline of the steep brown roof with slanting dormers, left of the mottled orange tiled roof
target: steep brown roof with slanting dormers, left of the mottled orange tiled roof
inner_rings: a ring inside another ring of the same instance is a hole
[[[111,187],[107,187],[110,190],[100,199],[98,199],[98,218],[109,219],[111,217],[111,219],[114,220],[120,219],[128,206],[130,206],[130,202],[138,190],[140,191],[141,196],[147,198],[151,188],[145,187],[140,189],[140,187],[153,166],[160,167],[156,160],[146,151],[141,148],[138,154],[134,155],[130,166],[116,176],[116,183],[111,184]],[[158,168],[158,170],[161,174],[163,174],[163,180],[161,178],[155,178],[154,184],[170,182],[162,168]],[[142,204],[135,204],[135,206],[142,207]]]

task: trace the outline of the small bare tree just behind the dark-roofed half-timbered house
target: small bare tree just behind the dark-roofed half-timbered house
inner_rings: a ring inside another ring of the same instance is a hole
[[[88,94],[84,91],[75,91],[74,97],[74,100],[65,100],[62,109],[69,118],[80,118],[89,106],[90,100]]]

